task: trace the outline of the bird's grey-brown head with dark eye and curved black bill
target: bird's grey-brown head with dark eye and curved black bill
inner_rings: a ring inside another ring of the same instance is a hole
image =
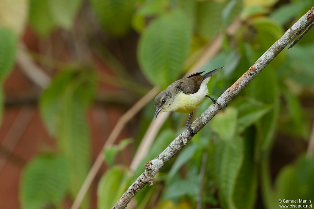
[[[167,89],[161,91],[154,99],[154,107],[156,108],[155,112],[155,120],[157,119],[157,115],[159,112],[167,112],[172,102],[174,101],[174,97],[170,91]]]

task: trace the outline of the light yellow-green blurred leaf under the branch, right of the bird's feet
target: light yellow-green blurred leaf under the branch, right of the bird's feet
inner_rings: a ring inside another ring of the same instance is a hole
[[[230,141],[236,133],[237,126],[236,108],[228,107],[224,112],[220,111],[212,120],[211,127],[220,139]]]

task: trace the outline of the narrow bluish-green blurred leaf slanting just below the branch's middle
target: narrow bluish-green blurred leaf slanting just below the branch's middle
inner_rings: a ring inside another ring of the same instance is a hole
[[[187,146],[180,152],[180,154],[176,158],[175,163],[172,165],[168,173],[169,180],[171,180],[171,178],[174,175],[176,175],[176,173],[178,172],[182,165],[184,165],[188,160],[190,160],[193,157],[197,149],[198,149],[197,144],[189,144],[189,146]]]

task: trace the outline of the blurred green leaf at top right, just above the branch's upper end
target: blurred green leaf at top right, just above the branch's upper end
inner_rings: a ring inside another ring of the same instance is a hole
[[[285,4],[272,12],[270,17],[276,20],[279,24],[284,25],[293,17],[297,17],[297,14],[304,8],[309,8],[310,6],[311,1],[307,0]]]

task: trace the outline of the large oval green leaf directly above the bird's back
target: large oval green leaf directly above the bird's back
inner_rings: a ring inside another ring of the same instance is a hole
[[[191,24],[180,10],[154,19],[138,45],[138,61],[146,78],[161,87],[175,81],[182,72],[190,43]]]

